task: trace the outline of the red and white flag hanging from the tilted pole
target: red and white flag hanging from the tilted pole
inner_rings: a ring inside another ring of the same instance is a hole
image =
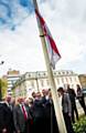
[[[58,49],[56,48],[56,44],[52,38],[52,34],[51,34],[44,19],[42,18],[42,16],[40,14],[40,12],[36,9],[35,9],[35,14],[36,14],[37,22],[40,22],[40,24],[43,29],[43,33],[44,33],[43,35],[45,37],[45,41],[46,41],[50,64],[53,66],[53,69],[55,69],[55,64],[61,59],[61,54],[58,52]]]

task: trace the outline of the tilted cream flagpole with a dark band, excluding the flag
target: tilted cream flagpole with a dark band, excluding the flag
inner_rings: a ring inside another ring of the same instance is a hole
[[[34,4],[34,9],[36,9],[39,11],[39,7],[37,7],[36,0],[33,0],[33,4]],[[63,114],[62,114],[62,110],[61,110],[60,102],[58,102],[58,94],[57,94],[56,86],[55,86],[53,71],[52,71],[52,68],[50,65],[50,58],[49,58],[49,54],[47,54],[44,32],[43,32],[43,29],[42,29],[42,25],[41,25],[40,22],[37,22],[37,25],[39,25],[42,48],[43,48],[43,52],[44,52],[44,58],[45,58],[45,64],[46,64],[46,69],[47,69],[49,80],[50,80],[50,83],[51,83],[52,99],[53,99],[53,103],[54,103],[54,109],[55,109],[55,115],[56,115],[56,121],[57,121],[57,125],[58,125],[58,131],[60,131],[60,133],[67,133],[66,132],[66,127],[65,127],[65,122],[64,122],[64,119],[63,119]]]

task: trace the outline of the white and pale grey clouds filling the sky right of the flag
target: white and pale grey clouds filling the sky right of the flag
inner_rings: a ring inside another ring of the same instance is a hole
[[[85,4],[85,0],[57,0],[54,9],[52,9],[51,2],[49,3],[50,17],[47,17],[47,20],[52,25],[51,29],[62,53],[62,60],[57,64],[60,69],[72,68],[77,72],[83,71],[80,65],[83,65],[84,61],[82,60],[86,55]],[[47,10],[46,8],[44,9]],[[78,69],[76,69],[77,65]]]

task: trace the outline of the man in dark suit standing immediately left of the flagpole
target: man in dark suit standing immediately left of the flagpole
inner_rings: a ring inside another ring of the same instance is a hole
[[[45,133],[60,133],[51,90],[45,90],[43,95],[43,105],[45,110]]]

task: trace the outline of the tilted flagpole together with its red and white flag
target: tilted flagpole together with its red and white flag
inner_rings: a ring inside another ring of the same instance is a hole
[[[58,131],[60,131],[60,133],[66,133],[66,126],[65,126],[62,110],[61,110],[61,106],[60,106],[60,103],[58,103],[58,94],[57,94],[57,91],[56,91],[52,68],[50,65],[50,64],[52,64],[53,68],[55,68],[56,62],[61,58],[61,54],[60,54],[60,52],[58,52],[58,50],[55,45],[55,42],[54,42],[54,40],[53,40],[53,38],[50,33],[49,28],[46,27],[46,23],[45,23],[44,19],[39,13],[39,7],[37,7],[36,0],[33,0],[33,3],[34,3],[34,9],[35,9],[35,14],[36,14],[36,20],[37,20],[42,48],[43,48],[43,52],[44,52],[49,80],[50,80],[50,83],[51,83],[52,99],[53,99],[53,103],[54,103]]]

